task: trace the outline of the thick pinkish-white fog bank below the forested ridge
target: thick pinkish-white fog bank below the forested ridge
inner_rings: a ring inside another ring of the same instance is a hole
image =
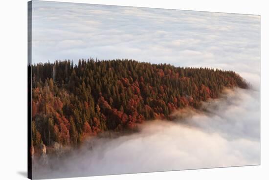
[[[203,104],[204,112],[183,110],[177,120],[153,120],[140,131],[116,138],[91,137],[53,167],[33,178],[65,178],[260,164],[259,90],[224,90]]]

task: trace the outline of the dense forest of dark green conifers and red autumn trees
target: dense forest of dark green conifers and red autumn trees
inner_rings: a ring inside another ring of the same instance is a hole
[[[225,87],[247,89],[247,83],[233,71],[134,60],[32,65],[32,144],[75,147],[89,135],[134,131],[145,120],[199,109]]]

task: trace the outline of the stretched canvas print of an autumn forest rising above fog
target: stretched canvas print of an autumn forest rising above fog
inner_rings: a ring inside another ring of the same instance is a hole
[[[259,164],[259,15],[28,2],[28,178]]]

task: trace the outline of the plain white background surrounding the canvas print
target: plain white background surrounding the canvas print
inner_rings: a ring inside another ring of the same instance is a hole
[[[63,0],[55,0],[63,1]],[[269,12],[265,0],[64,0],[94,4],[261,15],[261,165],[69,180],[268,179]],[[0,2],[0,179],[20,180],[27,172],[27,0]],[[199,147],[198,147],[199,148]]]

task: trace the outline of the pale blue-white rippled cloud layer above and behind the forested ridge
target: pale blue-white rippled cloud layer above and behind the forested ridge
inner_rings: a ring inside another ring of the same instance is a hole
[[[259,84],[260,16],[36,0],[32,7],[32,63],[127,58],[234,70]]]

